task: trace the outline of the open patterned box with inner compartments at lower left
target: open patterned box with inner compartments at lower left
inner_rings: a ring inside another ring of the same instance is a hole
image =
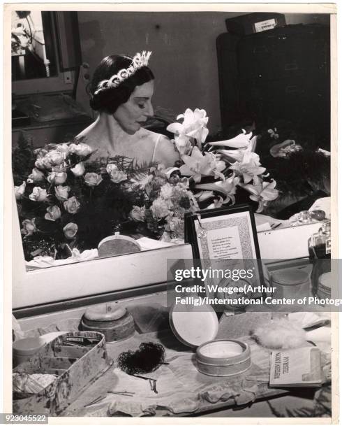
[[[111,364],[103,334],[95,331],[61,334],[13,369],[14,377],[21,376],[23,386],[22,392],[18,392],[18,385],[13,387],[13,414],[58,415]],[[37,373],[54,375],[55,379],[36,393],[27,392],[24,382]]]

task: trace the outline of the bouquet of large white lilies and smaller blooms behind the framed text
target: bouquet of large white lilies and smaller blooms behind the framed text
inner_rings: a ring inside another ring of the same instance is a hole
[[[242,130],[230,140],[205,144],[209,134],[205,110],[188,108],[177,120],[182,122],[170,124],[167,130],[174,134],[172,141],[181,158],[179,166],[166,170],[159,166],[159,178],[149,176],[149,184],[142,187],[147,194],[146,203],[152,204],[150,208],[135,206],[131,212],[133,220],[170,241],[184,238],[184,213],[235,204],[237,187],[258,202],[257,213],[278,197],[276,182],[265,180],[266,169],[253,152],[256,136]],[[152,183],[158,183],[156,192],[149,190]]]

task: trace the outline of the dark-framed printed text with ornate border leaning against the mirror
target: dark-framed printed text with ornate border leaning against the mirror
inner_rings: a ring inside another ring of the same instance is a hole
[[[206,280],[207,296],[214,297],[208,283],[224,287],[248,283],[253,287],[265,285],[265,278],[260,257],[258,233],[256,230],[253,208],[247,204],[232,207],[214,208],[211,210],[188,213],[185,216],[185,242],[193,248],[193,259],[196,267],[221,273],[234,269],[253,270],[249,279],[230,280],[215,278],[210,275]],[[254,297],[260,297],[260,292]],[[225,296],[224,296],[225,297]],[[231,296],[230,296],[231,297]]]

